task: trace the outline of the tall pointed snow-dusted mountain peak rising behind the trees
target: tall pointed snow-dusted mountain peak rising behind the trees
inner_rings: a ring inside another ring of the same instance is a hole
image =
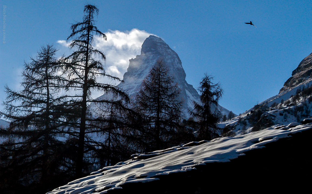
[[[181,98],[183,99],[183,112],[185,118],[188,119],[187,110],[193,110],[193,101],[199,101],[199,95],[192,85],[185,80],[186,74],[182,67],[182,62],[178,54],[173,51],[161,38],[150,35],[143,43],[141,54],[135,59],[129,60],[129,67],[124,73],[124,83],[118,85],[119,88],[128,92],[129,96],[134,98],[137,91],[141,87],[143,79],[148,75],[150,69],[154,66],[157,59],[163,59],[169,67],[169,73],[175,78],[175,82],[181,90]],[[99,99],[105,97],[105,94]],[[218,105],[218,109],[222,114],[228,115],[229,111]]]

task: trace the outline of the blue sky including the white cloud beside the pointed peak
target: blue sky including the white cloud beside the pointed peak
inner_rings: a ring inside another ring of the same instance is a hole
[[[197,87],[205,72],[215,76],[224,90],[220,105],[236,114],[278,94],[312,52],[311,1],[2,3],[7,6],[7,26],[6,43],[0,46],[0,100],[6,96],[5,84],[19,88],[24,60],[29,61],[42,45],[52,43],[60,55],[69,53],[60,40],[70,35],[71,23],[82,20],[86,3],[98,6],[97,26],[110,34],[107,45],[99,46],[111,56],[107,61],[111,73],[123,74],[128,60],[139,54],[139,44],[154,34],[178,53],[189,84]],[[249,21],[257,28],[244,24]]]

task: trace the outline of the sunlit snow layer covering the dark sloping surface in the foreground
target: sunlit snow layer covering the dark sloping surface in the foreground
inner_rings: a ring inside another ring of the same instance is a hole
[[[122,189],[125,184],[151,182],[172,173],[196,171],[196,168],[208,163],[230,162],[247,151],[261,149],[268,143],[312,130],[312,123],[308,123],[311,121],[312,118],[305,120],[307,124],[290,123],[283,128],[268,128],[236,137],[190,142],[147,154],[134,154],[128,161],[102,168],[47,194],[103,194]]]

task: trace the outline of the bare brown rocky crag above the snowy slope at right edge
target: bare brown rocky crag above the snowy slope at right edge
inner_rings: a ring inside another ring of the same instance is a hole
[[[283,88],[280,89],[280,93],[295,88],[303,83],[310,82],[312,80],[312,53],[304,58],[298,67],[291,73],[291,77],[284,83]]]

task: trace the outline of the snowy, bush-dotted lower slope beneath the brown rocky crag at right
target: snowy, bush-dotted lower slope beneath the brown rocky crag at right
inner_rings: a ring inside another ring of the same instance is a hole
[[[299,95],[297,100],[292,97],[295,96],[297,89],[303,86],[307,87],[308,83],[288,89],[259,103],[260,120],[258,121],[263,121],[262,127],[265,127],[266,123],[281,126],[287,123],[301,122],[303,118],[312,117],[312,94],[306,97]],[[255,120],[256,116],[257,106],[254,106],[232,120],[219,123],[218,126],[220,128],[230,127],[231,133],[227,135],[234,136],[250,133],[253,131],[256,122],[258,122],[257,119]]]

